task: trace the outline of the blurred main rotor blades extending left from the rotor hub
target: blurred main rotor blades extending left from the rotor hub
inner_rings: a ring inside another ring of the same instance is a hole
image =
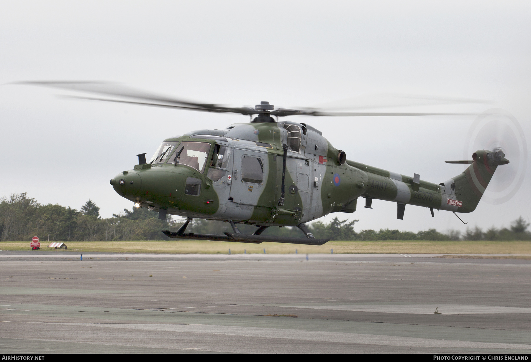
[[[256,114],[255,110],[247,107],[225,107],[221,104],[210,104],[210,103],[199,103],[189,100],[174,98],[172,96],[161,95],[156,93],[150,93],[145,91],[140,91],[122,84],[112,83],[112,82],[101,82],[101,81],[29,81],[29,82],[16,82],[15,84],[29,84],[29,85],[40,85],[52,88],[58,88],[69,91],[78,91],[78,92],[88,92],[96,94],[105,94],[105,95],[114,95],[124,98],[132,98],[145,101],[155,101],[157,103],[151,102],[129,102],[142,105],[152,105],[155,107],[166,107],[164,103],[169,103],[170,105],[176,105],[181,107],[173,107],[179,109],[189,109],[195,111],[207,111],[207,112],[228,112],[228,113],[240,113],[240,114]],[[75,97],[74,97],[75,98]],[[83,99],[83,97],[78,97]],[[90,98],[85,98],[90,99]],[[108,99],[97,99],[92,98],[91,100],[99,101],[111,101],[118,102]],[[122,103],[128,103],[123,101]],[[184,106],[184,107],[182,107]]]

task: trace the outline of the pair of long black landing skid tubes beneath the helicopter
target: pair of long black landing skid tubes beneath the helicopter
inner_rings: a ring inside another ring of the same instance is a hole
[[[214,241],[232,241],[238,243],[252,243],[260,244],[264,241],[273,243],[288,243],[288,244],[305,244],[305,245],[323,245],[330,239],[303,239],[302,237],[279,237],[279,236],[267,236],[267,235],[252,235],[252,234],[236,234],[225,232],[225,235],[210,235],[210,234],[194,234],[194,233],[182,233],[171,232],[169,230],[162,230],[168,237],[174,239],[194,239],[194,240],[214,240]]]

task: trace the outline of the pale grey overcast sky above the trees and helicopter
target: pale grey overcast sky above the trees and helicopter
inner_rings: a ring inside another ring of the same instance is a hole
[[[529,2],[0,5],[0,84],[117,81],[238,106],[260,101],[278,107],[314,106],[377,93],[486,99],[494,103],[393,110],[500,108],[531,139]],[[0,196],[28,192],[42,204],[76,209],[90,198],[103,217],[110,217],[132,207],[114,192],[109,179],[131,169],[136,154],[151,155],[169,136],[248,120],[56,96],[66,93],[0,86]],[[439,183],[463,171],[462,165],[444,161],[464,158],[464,148],[474,142],[469,133],[476,118],[291,119],[322,130],[350,160],[406,175],[419,173],[421,179]],[[513,160],[511,154],[507,158]],[[531,216],[529,162],[516,195],[501,205],[482,201],[474,213],[461,214],[467,226],[509,226],[520,215]],[[500,167],[495,178],[502,172]],[[359,204],[355,214],[324,219],[359,219],[357,230],[466,228],[447,211],[432,218],[428,209],[407,206],[404,220],[397,220],[393,202],[374,200],[372,210],[362,207],[363,200]]]

